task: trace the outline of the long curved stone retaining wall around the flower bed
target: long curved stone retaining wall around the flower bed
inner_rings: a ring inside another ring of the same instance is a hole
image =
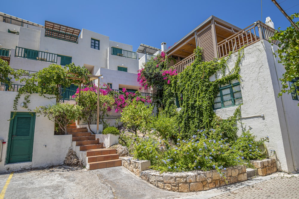
[[[174,192],[195,192],[213,189],[225,184],[232,184],[247,180],[246,166],[229,167],[225,172],[226,181],[216,170],[212,171],[190,171],[176,173],[162,173],[149,169],[150,161],[133,160],[132,157],[122,159],[122,166],[129,169],[143,180],[159,187]]]

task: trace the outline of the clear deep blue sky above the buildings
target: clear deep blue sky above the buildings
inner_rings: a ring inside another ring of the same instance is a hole
[[[288,15],[299,12],[298,0],[277,0]],[[271,2],[262,0],[262,21],[270,16],[275,28],[289,21]],[[82,30],[85,28],[133,46],[143,43],[160,48],[173,45],[209,16],[245,28],[261,20],[261,0],[184,1],[19,1],[1,2],[0,12],[37,24],[45,20]]]

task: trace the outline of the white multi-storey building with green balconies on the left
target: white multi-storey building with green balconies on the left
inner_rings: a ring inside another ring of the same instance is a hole
[[[133,52],[132,45],[110,41],[109,36],[90,30],[50,21],[39,25],[4,13],[0,13],[0,48],[0,56],[7,57],[14,69],[39,71],[51,63],[65,66],[74,62],[92,75],[102,75],[100,84],[140,92],[147,90],[139,89],[139,66],[160,50],[141,44]]]

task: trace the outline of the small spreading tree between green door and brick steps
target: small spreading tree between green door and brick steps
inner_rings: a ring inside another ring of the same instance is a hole
[[[67,126],[71,124],[74,120],[79,118],[82,107],[79,105],[72,104],[54,104],[52,106],[41,106],[36,107],[34,110],[36,115],[44,115],[48,117],[49,120],[57,123],[62,131],[67,134]]]

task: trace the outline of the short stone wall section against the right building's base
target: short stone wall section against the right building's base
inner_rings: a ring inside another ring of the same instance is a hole
[[[275,159],[252,160],[250,163],[257,169],[256,175],[265,176],[277,172]]]

